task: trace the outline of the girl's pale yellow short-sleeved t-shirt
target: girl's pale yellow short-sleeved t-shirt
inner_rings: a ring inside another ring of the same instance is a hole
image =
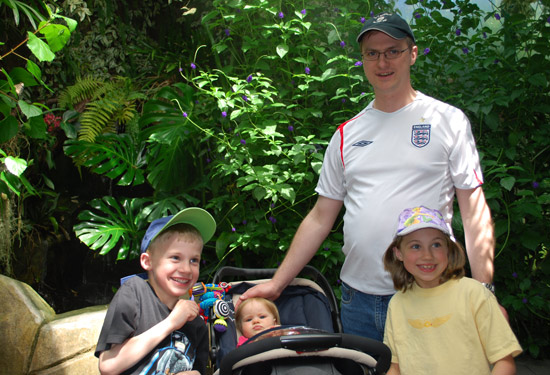
[[[490,375],[490,364],[522,351],[495,296],[467,277],[397,292],[384,343],[401,375]]]

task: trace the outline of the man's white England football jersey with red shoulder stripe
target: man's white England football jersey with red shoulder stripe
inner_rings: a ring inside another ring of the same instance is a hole
[[[470,122],[458,108],[420,92],[393,113],[372,104],[334,133],[315,190],[346,207],[342,281],[389,295],[395,290],[382,256],[399,213],[424,205],[450,226],[455,188],[476,188],[483,176]]]

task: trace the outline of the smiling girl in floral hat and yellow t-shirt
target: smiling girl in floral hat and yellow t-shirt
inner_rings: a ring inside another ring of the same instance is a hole
[[[516,373],[518,340],[494,294],[464,277],[465,260],[439,211],[401,212],[384,254],[398,290],[384,334],[392,351],[388,375]]]

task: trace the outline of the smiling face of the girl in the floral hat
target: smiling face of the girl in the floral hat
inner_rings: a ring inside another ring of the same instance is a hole
[[[433,228],[405,235],[399,248],[395,247],[393,251],[422,288],[438,286],[439,278],[449,264],[447,237]]]

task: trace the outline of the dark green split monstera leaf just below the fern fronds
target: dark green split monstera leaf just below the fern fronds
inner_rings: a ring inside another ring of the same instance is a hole
[[[77,165],[90,168],[93,173],[118,180],[117,185],[140,185],[145,182],[145,160],[128,134],[105,134],[94,143],[68,139],[65,154]]]

